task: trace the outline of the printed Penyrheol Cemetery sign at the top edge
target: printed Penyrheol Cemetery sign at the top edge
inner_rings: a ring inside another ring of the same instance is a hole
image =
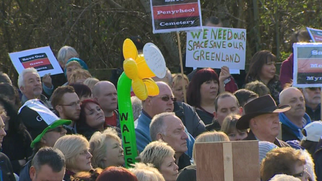
[[[201,29],[199,0],[150,0],[153,33]]]

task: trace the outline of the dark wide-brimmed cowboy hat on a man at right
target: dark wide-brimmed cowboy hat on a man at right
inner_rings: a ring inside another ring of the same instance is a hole
[[[244,105],[245,114],[238,119],[236,128],[245,130],[249,128],[249,120],[262,114],[286,112],[291,109],[290,105],[277,106],[271,95],[260,96]]]

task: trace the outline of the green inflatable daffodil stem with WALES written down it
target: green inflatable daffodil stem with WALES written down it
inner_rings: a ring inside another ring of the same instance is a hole
[[[132,80],[123,72],[117,82],[117,98],[119,104],[119,122],[121,123],[122,143],[126,168],[137,162],[137,142],[133,120],[130,87]]]

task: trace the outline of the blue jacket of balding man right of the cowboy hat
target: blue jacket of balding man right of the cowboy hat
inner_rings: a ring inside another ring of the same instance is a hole
[[[303,137],[303,128],[298,128],[298,126],[292,123],[283,112],[279,114],[279,117],[280,122],[282,123],[282,140],[301,140]],[[306,126],[308,123],[311,123],[311,119],[309,115],[305,113],[303,116],[303,125]]]

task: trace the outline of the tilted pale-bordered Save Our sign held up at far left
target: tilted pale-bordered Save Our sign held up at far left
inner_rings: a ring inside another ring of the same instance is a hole
[[[9,53],[9,56],[18,74],[29,67],[37,69],[41,77],[49,73],[51,75],[63,73],[50,46]]]

